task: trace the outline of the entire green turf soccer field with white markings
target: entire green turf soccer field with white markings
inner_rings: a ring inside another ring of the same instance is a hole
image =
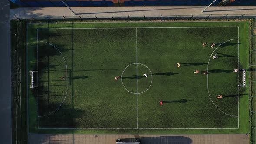
[[[29,24],[28,71],[38,83],[28,89],[29,131],[248,133],[248,88],[233,72],[248,69],[248,30],[248,22]]]

